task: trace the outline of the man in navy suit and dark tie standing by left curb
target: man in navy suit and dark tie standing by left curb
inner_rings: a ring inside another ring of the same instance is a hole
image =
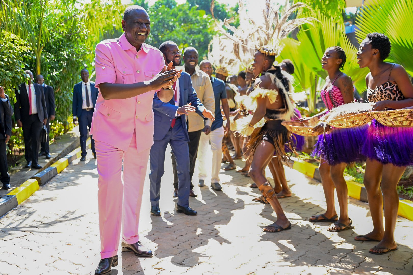
[[[79,122],[80,132],[80,148],[81,161],[86,160],[86,139],[88,138],[88,129],[92,123],[93,108],[96,105],[98,89],[95,87],[95,82],[89,81],[89,71],[83,69],[80,71],[80,77],[82,81],[76,83],[73,88],[73,123]],[[95,153],[95,141],[90,136],[90,147],[93,152],[93,156],[96,158]]]

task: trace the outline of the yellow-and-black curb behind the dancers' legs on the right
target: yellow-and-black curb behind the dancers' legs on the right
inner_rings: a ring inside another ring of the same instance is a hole
[[[301,172],[310,178],[316,179],[321,182],[320,172],[318,171],[318,166],[313,165],[309,162],[299,160],[296,157],[291,157],[290,164],[292,164],[292,169]],[[363,184],[355,181],[346,181],[348,195],[362,202],[368,202],[366,188]],[[399,216],[413,221],[413,202],[410,200],[404,200],[399,198]]]

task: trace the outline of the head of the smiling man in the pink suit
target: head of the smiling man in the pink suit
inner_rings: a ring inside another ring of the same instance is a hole
[[[133,10],[126,21],[122,20],[122,28],[128,42],[133,47],[140,47],[151,31],[149,15],[142,9]]]

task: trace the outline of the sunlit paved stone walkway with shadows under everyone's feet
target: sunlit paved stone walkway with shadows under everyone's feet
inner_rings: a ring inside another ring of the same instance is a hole
[[[112,275],[413,274],[413,221],[399,217],[398,251],[369,254],[375,242],[353,239],[372,229],[368,205],[350,198],[356,228],[330,233],[328,223],[308,221],[325,209],[322,186],[295,170],[285,168],[293,196],[281,202],[293,226],[282,233],[262,232],[275,214],[269,205],[252,202],[258,192],[235,170],[221,170],[222,192],[195,187],[198,197],[190,198],[195,217],[174,212],[170,161],[165,170],[162,216],[149,214],[148,179],[142,203],[141,241],[154,256],[143,259],[119,251]],[[93,274],[100,260],[97,177],[95,160],[76,160],[2,217],[0,274]]]

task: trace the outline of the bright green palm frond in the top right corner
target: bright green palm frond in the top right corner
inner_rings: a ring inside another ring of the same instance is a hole
[[[413,75],[413,1],[370,0],[356,19],[358,40],[368,33],[389,37],[392,49],[386,61],[398,63]]]

